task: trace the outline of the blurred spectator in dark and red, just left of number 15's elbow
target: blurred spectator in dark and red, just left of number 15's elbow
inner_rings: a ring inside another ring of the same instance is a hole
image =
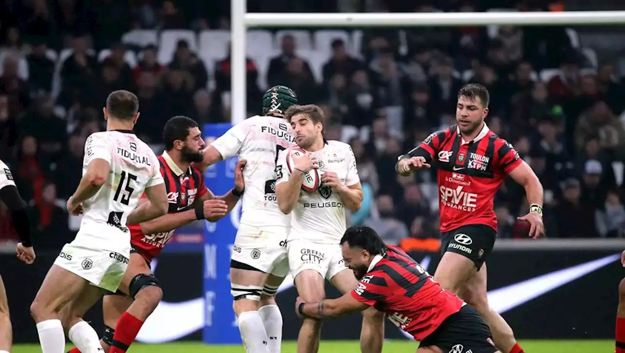
[[[73,239],[68,229],[68,213],[56,204],[56,186],[47,182],[30,209],[29,218],[34,224],[34,245],[41,250],[58,251]]]

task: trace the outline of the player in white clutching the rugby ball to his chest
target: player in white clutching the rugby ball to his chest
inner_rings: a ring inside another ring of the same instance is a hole
[[[294,131],[297,146],[308,153],[294,157],[292,172],[287,167],[289,150],[277,161],[276,197],[280,210],[292,214],[287,253],[291,274],[299,296],[304,301],[326,297],[324,278],[343,294],[358,283],[345,266],[341,236],[347,229],[345,209],[357,211],[362,202],[362,188],[356,157],[348,144],[323,138],[324,116],[313,104],[292,106],[285,119]],[[304,173],[317,169],[321,186],[314,192],[302,191]],[[381,352],[384,339],[384,314],[374,308],[363,312],[361,351]],[[297,337],[297,352],[319,350],[321,321],[304,319]]]

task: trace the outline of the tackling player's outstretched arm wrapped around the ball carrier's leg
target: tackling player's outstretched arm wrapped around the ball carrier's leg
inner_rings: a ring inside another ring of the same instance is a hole
[[[304,302],[300,297],[297,297],[295,303],[297,316],[314,317],[315,319],[355,314],[366,310],[368,307],[369,305],[354,299],[351,293],[343,294],[337,299],[324,299],[313,303]]]

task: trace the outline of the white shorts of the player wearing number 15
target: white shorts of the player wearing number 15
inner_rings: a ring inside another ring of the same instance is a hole
[[[94,286],[116,292],[126,272],[130,257],[130,244],[126,251],[93,249],[66,244],[54,264],[83,277]]]

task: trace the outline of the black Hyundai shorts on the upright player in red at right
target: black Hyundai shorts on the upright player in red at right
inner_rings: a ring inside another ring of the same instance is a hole
[[[441,234],[441,256],[449,251],[473,261],[477,271],[482,267],[495,245],[497,232],[485,224],[467,224]]]

